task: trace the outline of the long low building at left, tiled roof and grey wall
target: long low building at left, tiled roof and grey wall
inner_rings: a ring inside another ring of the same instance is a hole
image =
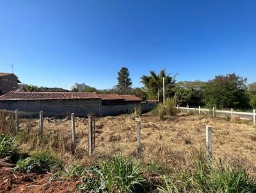
[[[101,98],[96,93],[10,92],[0,96],[0,109],[27,112],[99,112]]]

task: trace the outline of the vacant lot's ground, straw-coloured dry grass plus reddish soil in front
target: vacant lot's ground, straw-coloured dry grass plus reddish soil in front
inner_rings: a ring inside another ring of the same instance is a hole
[[[38,136],[38,119],[22,119],[22,132],[17,136],[16,143],[19,144],[19,150],[24,152],[33,153],[45,149],[54,152],[63,160],[64,169],[75,164],[100,166],[102,160],[111,159],[122,152],[125,156],[140,158],[143,167],[150,168],[143,170],[143,176],[148,181],[159,181],[160,167],[172,174],[173,178],[180,176],[186,181],[187,177],[182,176],[182,173],[195,170],[196,157],[205,153],[205,126],[211,125],[214,159],[221,159],[225,164],[243,166],[249,174],[255,176],[256,127],[252,123],[181,113],[160,121],[156,116],[144,114],[141,116],[142,152],[138,157],[134,115],[108,116],[94,120],[95,145],[92,157],[88,156],[87,118],[76,118],[77,148],[74,154],[70,118],[44,118],[44,135],[41,137]],[[2,122],[4,123],[3,118]],[[3,127],[13,128],[13,124],[2,124],[1,129]],[[216,166],[216,162],[214,165]],[[81,183],[79,178],[51,182],[50,176],[49,173],[22,174],[13,171],[12,167],[1,167],[0,192],[76,192],[77,185]]]

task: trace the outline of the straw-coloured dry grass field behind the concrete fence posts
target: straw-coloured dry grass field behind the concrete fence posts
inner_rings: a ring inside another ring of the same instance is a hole
[[[179,116],[159,121],[141,116],[141,160],[152,160],[170,169],[193,169],[195,157],[205,151],[205,125],[213,129],[213,154],[227,164],[243,165],[256,173],[256,128],[252,123],[235,123],[204,116]],[[95,120],[95,150],[88,157],[87,120],[76,118],[77,150],[71,151],[71,121],[44,120],[44,137],[36,137],[38,120],[22,120],[22,150],[49,148],[57,151],[66,164],[95,164],[122,151],[136,156],[137,131],[134,115],[107,116]],[[27,138],[26,138],[27,137]],[[26,140],[24,140],[26,138]]]

